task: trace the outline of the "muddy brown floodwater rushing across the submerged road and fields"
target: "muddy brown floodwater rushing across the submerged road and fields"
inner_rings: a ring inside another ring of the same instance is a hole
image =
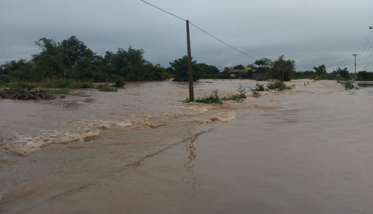
[[[171,81],[0,100],[0,213],[373,213],[373,88],[287,84],[222,105]]]

